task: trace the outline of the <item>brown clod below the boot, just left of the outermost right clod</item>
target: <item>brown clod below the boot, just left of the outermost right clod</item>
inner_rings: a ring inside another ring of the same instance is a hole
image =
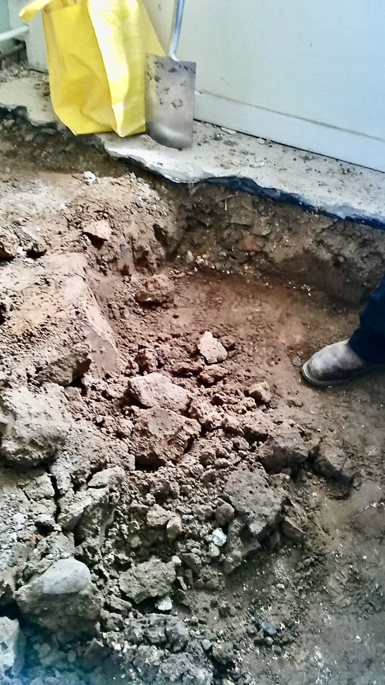
[[[269,473],[302,464],[309,455],[310,447],[296,429],[287,430],[270,437],[258,449],[258,460]]]

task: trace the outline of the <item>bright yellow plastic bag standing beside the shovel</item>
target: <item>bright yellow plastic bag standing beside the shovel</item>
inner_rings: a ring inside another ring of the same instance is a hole
[[[144,131],[145,55],[164,52],[142,0],[34,0],[20,16],[40,10],[60,121],[74,134]]]

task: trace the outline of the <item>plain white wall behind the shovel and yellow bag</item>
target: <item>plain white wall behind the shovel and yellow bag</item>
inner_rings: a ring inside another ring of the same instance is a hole
[[[178,56],[198,119],[385,171],[384,32],[384,0],[186,0]]]

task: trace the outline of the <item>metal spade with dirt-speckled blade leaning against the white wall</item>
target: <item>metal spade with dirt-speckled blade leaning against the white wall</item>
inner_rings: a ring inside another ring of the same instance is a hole
[[[167,57],[146,55],[146,130],[161,145],[183,149],[193,140],[195,62],[176,57],[185,0],[176,0]]]

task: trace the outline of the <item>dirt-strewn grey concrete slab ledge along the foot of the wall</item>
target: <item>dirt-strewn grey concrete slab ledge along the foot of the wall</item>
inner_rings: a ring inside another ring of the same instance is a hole
[[[51,108],[47,77],[38,72],[1,75],[0,114],[9,112],[35,126],[66,130]],[[183,151],[145,135],[98,134],[83,142],[176,183],[212,181],[385,229],[385,174],[379,171],[200,122],[193,147]]]

